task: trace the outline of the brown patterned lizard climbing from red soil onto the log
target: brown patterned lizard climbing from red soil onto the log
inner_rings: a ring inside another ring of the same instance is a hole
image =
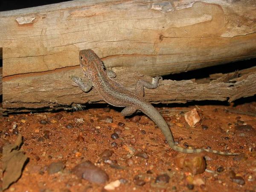
[[[167,125],[163,116],[144,99],[144,87],[148,89],[157,88],[161,76],[154,77],[152,83],[143,79],[137,81],[136,92],[126,89],[122,84],[113,80],[116,73],[112,70],[105,70],[104,65],[96,53],[91,49],[84,49],[79,52],[80,67],[89,81],[84,84],[81,78],[72,76],[73,81],[84,92],[89,92],[92,87],[95,87],[102,99],[109,105],[115,107],[125,107],[121,111],[121,115],[128,116],[136,111],[141,111],[147,115],[163,132],[169,146],[178,152],[182,153],[201,153],[203,151],[216,154],[237,155],[238,153],[222,152],[212,149],[188,149],[175,145],[172,137],[172,132]]]

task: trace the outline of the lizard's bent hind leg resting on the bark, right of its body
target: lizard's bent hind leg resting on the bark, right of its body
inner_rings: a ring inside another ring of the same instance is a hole
[[[137,95],[140,97],[144,96],[144,87],[146,87],[148,89],[157,88],[159,79],[163,80],[163,77],[161,77],[161,76],[154,77],[152,80],[152,83],[149,83],[148,81],[145,81],[143,79],[140,79],[139,81],[137,81],[137,84],[136,84]]]

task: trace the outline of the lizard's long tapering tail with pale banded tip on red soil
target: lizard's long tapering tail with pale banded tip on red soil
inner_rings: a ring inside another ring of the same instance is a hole
[[[169,146],[178,152],[181,153],[201,153],[203,151],[211,152],[211,153],[216,153],[216,154],[224,154],[224,155],[238,155],[239,153],[230,153],[230,152],[222,152],[222,151],[216,151],[212,149],[188,149],[188,148],[182,148],[177,145],[175,145],[173,137],[172,137],[172,132],[167,125],[166,121],[163,119],[161,114],[151,105],[148,103],[148,105],[142,109],[140,109],[143,113],[145,113],[152,121],[155,122],[155,124],[160,128],[160,130],[163,132],[164,136],[166,137],[166,141],[169,144]]]

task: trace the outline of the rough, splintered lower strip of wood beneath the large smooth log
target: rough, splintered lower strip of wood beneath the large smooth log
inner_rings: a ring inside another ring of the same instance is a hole
[[[71,74],[82,76],[84,82],[87,81],[81,70],[76,68],[72,70],[62,69],[56,73],[58,76],[54,76],[55,79],[49,78],[52,77],[51,73],[43,74],[36,80],[33,75],[8,79],[8,84],[5,86],[3,93],[5,98],[10,99],[4,99],[3,110],[5,112],[17,112],[17,110],[29,112],[52,111],[76,104],[104,103],[95,88],[90,90],[89,93],[81,91],[70,79],[67,70],[71,71]],[[143,76],[134,70],[118,70],[116,75],[116,81],[133,91],[135,91],[134,88],[138,79],[152,81],[151,77]],[[160,86],[156,89],[145,89],[145,99],[151,103],[186,103],[194,100],[228,100],[232,102],[256,94],[256,72],[230,79],[229,77],[232,76],[233,74],[226,74],[224,78],[220,77],[208,84],[198,84],[191,80],[160,81]]]

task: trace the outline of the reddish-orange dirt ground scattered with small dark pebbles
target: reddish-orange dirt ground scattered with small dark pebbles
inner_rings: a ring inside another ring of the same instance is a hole
[[[88,105],[84,111],[3,117],[4,143],[15,143],[22,134],[21,150],[29,157],[20,179],[6,192],[256,191],[256,116],[237,113],[255,114],[256,102],[157,105],[158,110],[171,110],[162,114],[177,145],[241,153],[203,152],[206,169],[199,173],[193,168],[198,162],[191,161],[190,169],[178,165],[192,156],[169,148],[160,129],[143,113],[127,118],[120,108],[95,106],[99,105]],[[201,121],[189,127],[184,113],[193,108]],[[245,129],[235,130],[236,126]],[[93,175],[103,175],[105,183],[77,175],[73,168],[87,160],[100,168]],[[116,188],[104,189],[113,181]]]

